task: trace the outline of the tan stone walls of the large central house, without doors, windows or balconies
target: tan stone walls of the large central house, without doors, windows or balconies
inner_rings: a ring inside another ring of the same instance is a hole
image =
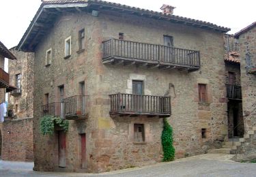
[[[85,28],[85,51],[78,50],[78,31]],[[163,44],[163,35],[174,37],[174,46],[201,51],[201,69],[193,73],[147,67],[103,65],[101,44],[104,39],[124,39]],[[64,41],[72,39],[71,57],[64,57]],[[46,50],[52,48],[52,63],[45,66]],[[131,80],[144,81],[147,95],[171,95],[176,158],[198,155],[227,137],[227,100],[223,35],[186,25],[176,25],[144,17],[102,12],[99,17],[86,13],[60,16],[48,35],[35,49],[34,97],[34,170],[103,172],[132,165],[148,165],[162,158],[160,136],[162,118],[110,117],[109,94],[130,93]],[[65,97],[79,94],[85,82],[89,95],[89,118],[69,120],[66,133],[66,168],[58,167],[57,132],[40,134],[44,94],[50,102],[59,101],[58,86],[64,85]],[[169,84],[174,85],[169,88]],[[207,103],[199,103],[198,84],[207,84]],[[145,143],[133,142],[133,124],[145,125]],[[206,129],[206,138],[201,137]],[[80,133],[86,133],[85,169],[81,169]],[[205,145],[207,144],[207,145]]]

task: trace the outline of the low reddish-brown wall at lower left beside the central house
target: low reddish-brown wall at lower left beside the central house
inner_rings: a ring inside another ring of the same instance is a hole
[[[33,161],[33,118],[5,120],[0,126],[4,161]]]

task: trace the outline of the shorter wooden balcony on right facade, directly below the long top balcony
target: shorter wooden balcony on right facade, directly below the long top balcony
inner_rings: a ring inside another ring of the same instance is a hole
[[[171,97],[117,93],[111,97],[111,116],[171,116]]]

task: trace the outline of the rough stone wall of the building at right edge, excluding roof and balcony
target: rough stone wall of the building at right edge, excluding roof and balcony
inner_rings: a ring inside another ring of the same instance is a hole
[[[241,58],[241,83],[244,112],[244,124],[246,131],[256,125],[256,75],[248,74],[246,54],[256,67],[256,27],[242,33],[239,36]]]

